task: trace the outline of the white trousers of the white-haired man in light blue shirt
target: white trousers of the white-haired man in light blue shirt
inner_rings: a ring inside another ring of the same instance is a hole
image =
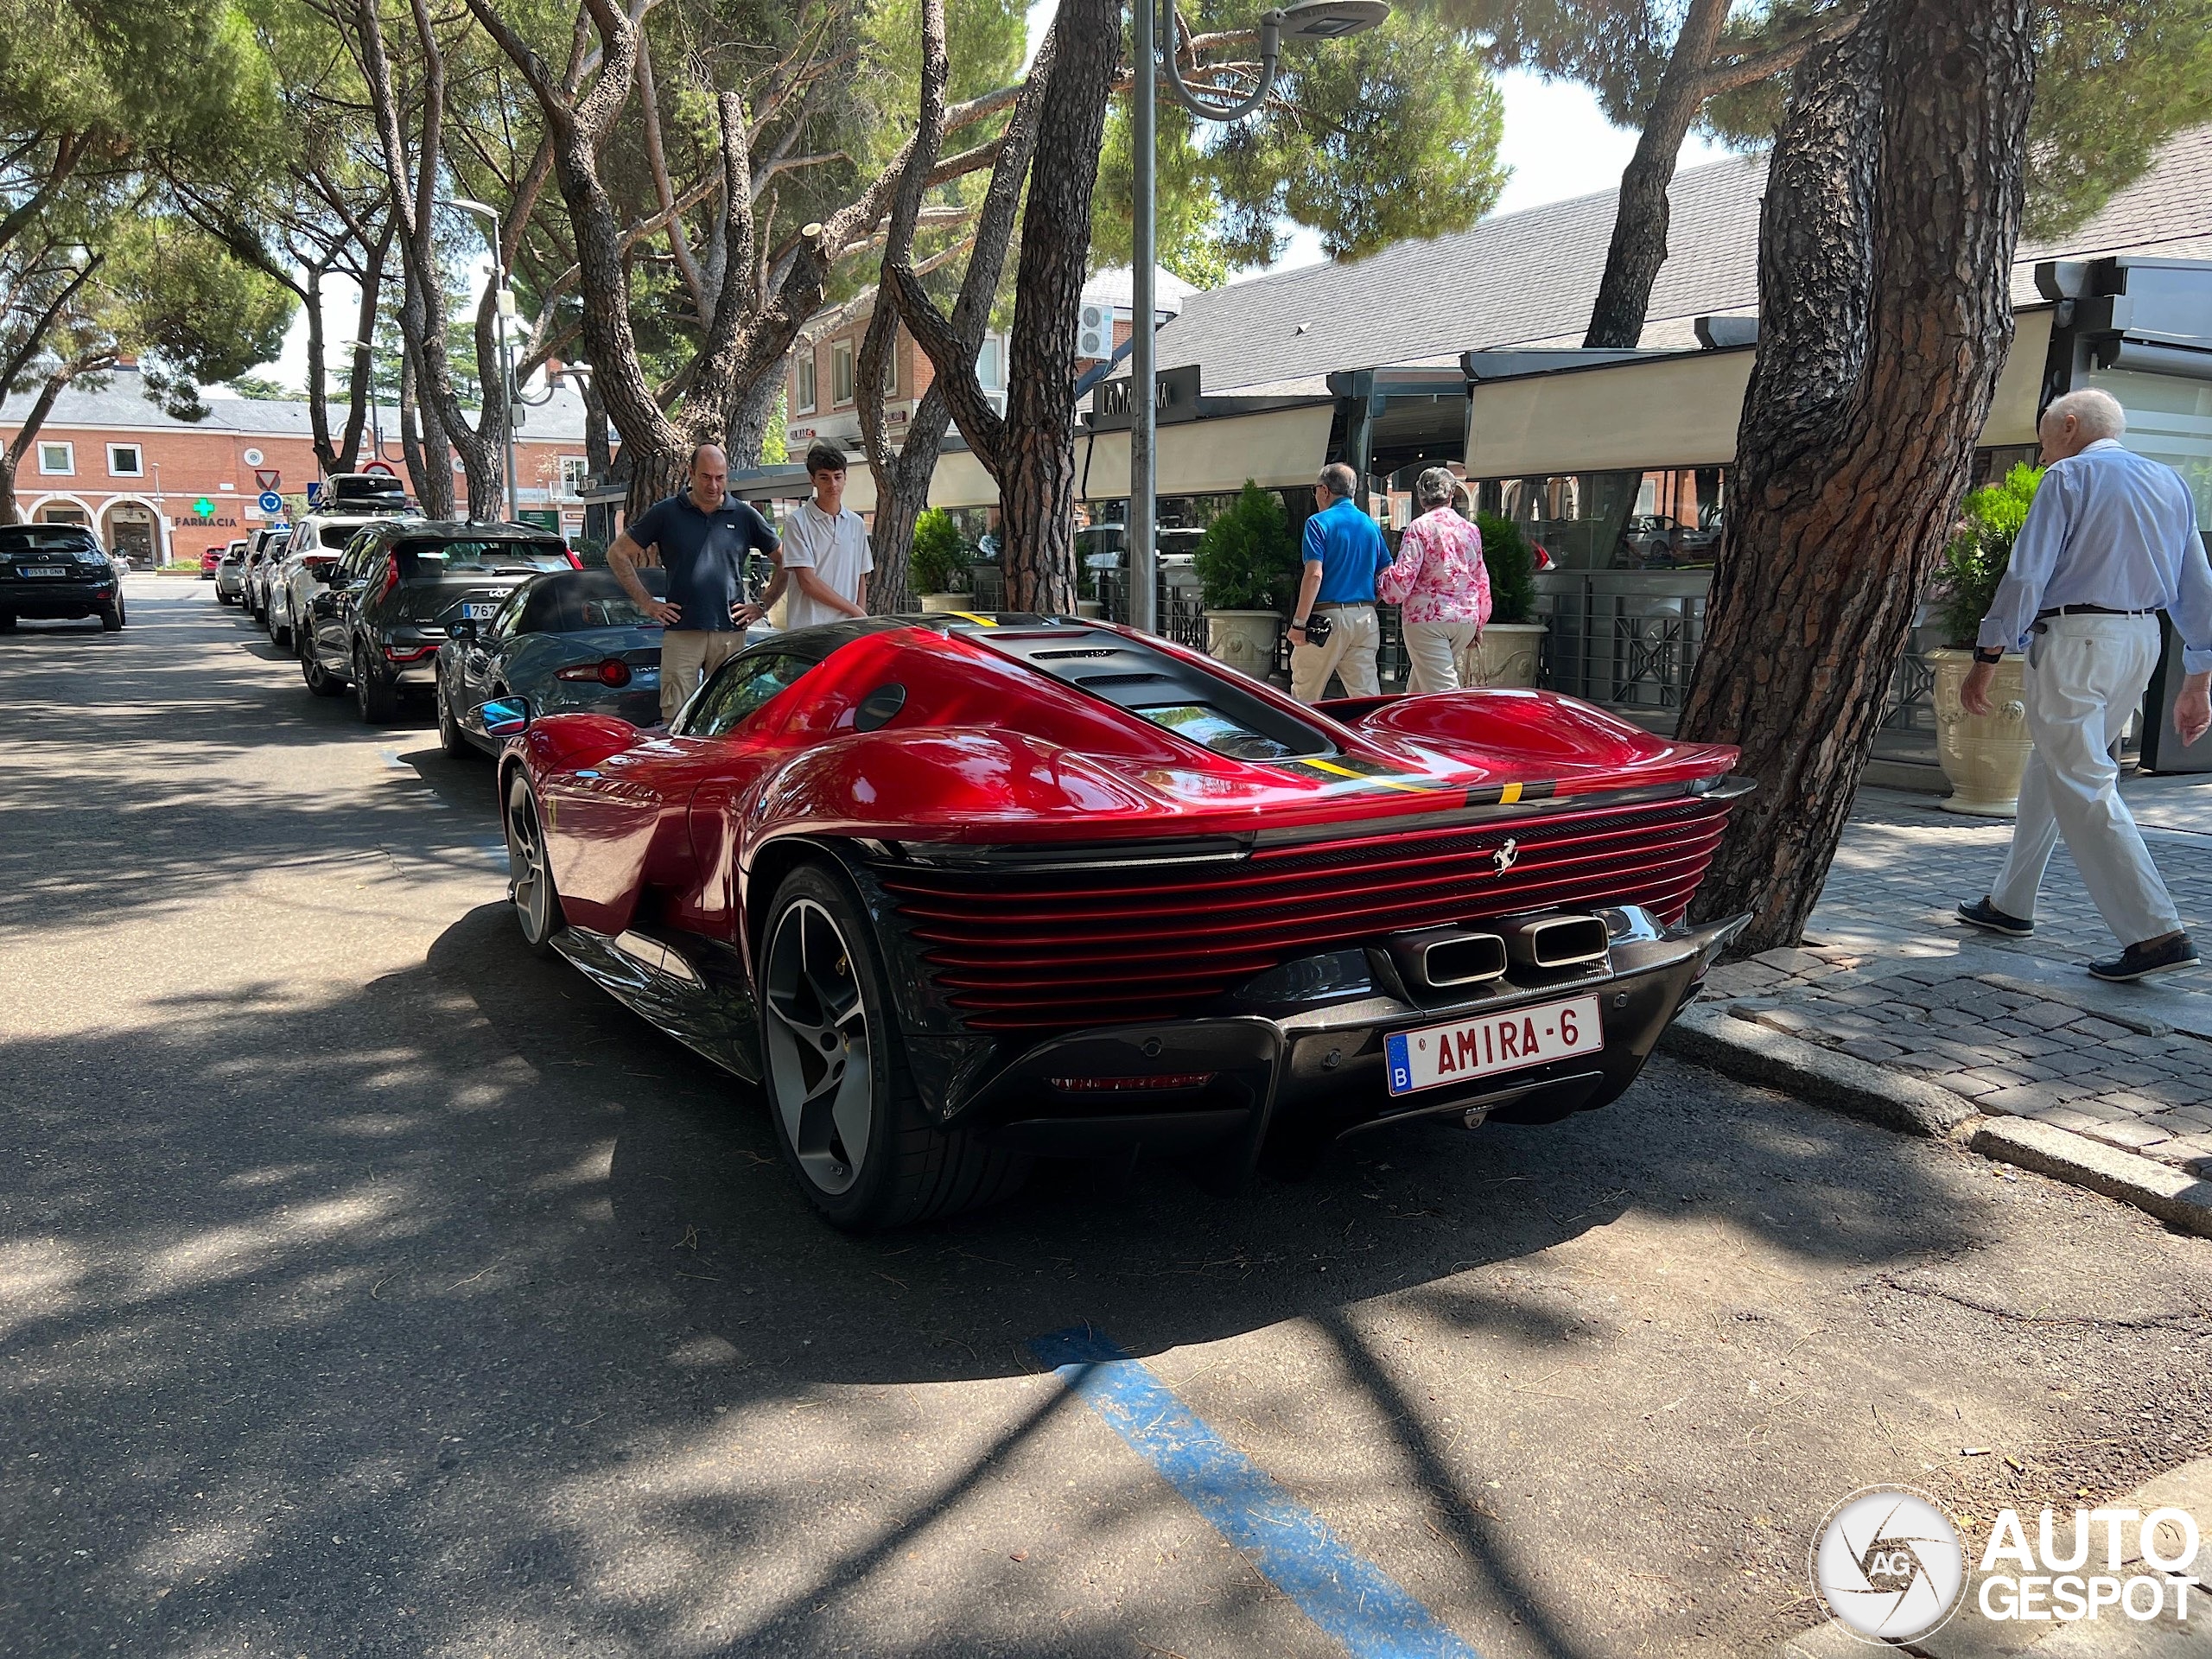
[[[2157,617],[2051,617],[2028,639],[2024,697],[2035,741],[2020,779],[2020,818],[1989,902],[2035,916],[2035,889],[2059,836],[2097,914],[2121,945],[2181,927],[2143,832],[2119,799],[2112,745],[2159,666]]]

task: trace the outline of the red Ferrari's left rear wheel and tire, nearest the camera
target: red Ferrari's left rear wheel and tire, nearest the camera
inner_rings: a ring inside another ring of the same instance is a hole
[[[761,931],[761,1060],[776,1148],[845,1232],[1011,1194],[1029,1159],[931,1124],[907,1071],[876,931],[843,876],[799,865]]]

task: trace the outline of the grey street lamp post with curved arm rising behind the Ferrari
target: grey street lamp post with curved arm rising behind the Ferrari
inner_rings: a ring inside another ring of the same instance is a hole
[[[1159,146],[1159,117],[1157,117],[1157,91],[1159,71],[1155,64],[1168,71],[1168,91],[1175,93],[1175,102],[1186,111],[1197,115],[1201,122],[1241,122],[1245,115],[1256,111],[1267,102],[1267,93],[1274,91],[1276,62],[1283,49],[1283,40],[1343,40],[1345,35],[1356,35],[1363,29],[1374,29],[1389,15],[1389,4],[1385,0],[1298,0],[1298,4],[1272,9],[1261,13],[1259,20],[1259,58],[1261,75],[1259,84],[1252,88],[1250,97],[1234,104],[1214,102],[1201,91],[1192,91],[1183,82],[1183,66],[1175,60],[1175,49],[1166,53],[1157,49],[1157,24],[1161,11],[1166,11],[1168,40],[1179,40],[1177,9],[1175,0],[1135,0],[1133,11],[1133,51],[1130,60],[1137,64],[1135,86],[1130,91],[1130,137],[1137,161],[1137,188],[1135,188],[1135,223],[1130,226],[1130,398],[1128,398],[1128,619],[1133,628],[1144,633],[1157,633],[1159,628],[1159,606],[1157,606],[1157,582],[1159,582],[1159,546],[1157,546],[1157,518],[1159,518],[1159,467],[1155,456],[1157,438],[1157,349],[1152,343],[1152,330],[1157,325],[1159,307],[1152,281],[1152,265],[1159,252],[1159,234],[1155,226],[1155,192],[1157,192],[1157,146]]]

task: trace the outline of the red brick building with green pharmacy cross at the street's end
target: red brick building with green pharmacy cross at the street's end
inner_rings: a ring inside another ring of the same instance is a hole
[[[234,542],[268,522],[263,491],[285,498],[279,518],[305,511],[307,484],[321,476],[307,405],[226,396],[206,403],[206,420],[177,420],[144,396],[137,369],[115,369],[100,389],[71,387],[15,469],[18,511],[31,522],[91,524],[133,562],[199,560]],[[29,405],[29,394],[0,403],[0,442],[13,440]],[[343,407],[332,418],[343,420]],[[378,458],[405,480],[389,405],[376,411],[374,431],[380,442],[363,445],[363,465]],[[551,403],[529,409],[515,434],[520,511],[580,533],[586,473],[584,400],[560,387]],[[462,489],[456,460],[456,498]]]

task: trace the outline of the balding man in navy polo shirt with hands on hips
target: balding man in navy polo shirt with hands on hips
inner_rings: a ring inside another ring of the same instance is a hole
[[[776,533],[750,502],[728,495],[730,460],[717,445],[699,445],[690,460],[690,489],[655,502],[606,549],[606,566],[659,622],[661,721],[675,719],[699,684],[737,655],[745,628],[737,619],[745,602],[745,553],[776,553]],[[657,549],[668,571],[668,597],[655,599],[637,580],[637,566]]]

